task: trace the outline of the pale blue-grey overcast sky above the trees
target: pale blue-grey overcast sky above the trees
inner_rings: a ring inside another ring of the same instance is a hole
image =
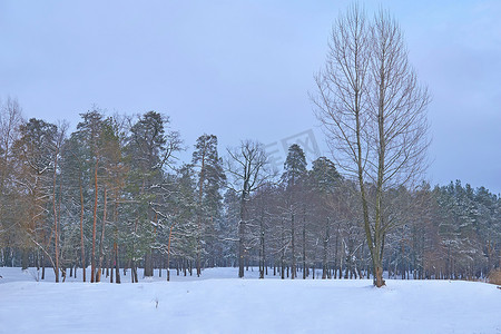
[[[207,132],[222,149],[254,138],[279,154],[298,138],[328,155],[307,92],[348,3],[0,0],[0,98],[73,127],[94,104],[160,111],[188,147]],[[433,96],[429,180],[500,193],[501,1],[382,4]]]

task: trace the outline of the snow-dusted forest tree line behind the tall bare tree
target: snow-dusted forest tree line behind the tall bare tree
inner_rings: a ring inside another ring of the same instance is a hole
[[[179,161],[179,134],[156,111],[129,117],[98,108],[66,122],[24,120],[1,104],[0,264],[33,266],[56,282],[120,283],[256,266],[259,277],[374,277],[361,187],[326,157],[307,165],[292,145],[282,171],[263,145],[244,140],[219,156],[202,135]],[[377,189],[365,181],[372,216],[384,195],[382,269],[390,277],[484,277],[501,265],[501,199],[484,187]],[[90,266],[90,277],[84,267]],[[105,277],[104,277],[105,275]]]

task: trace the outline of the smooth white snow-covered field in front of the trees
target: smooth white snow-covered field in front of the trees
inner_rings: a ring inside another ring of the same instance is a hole
[[[0,267],[0,333],[501,333],[501,289],[449,281],[255,279],[214,268],[56,284]],[[50,281],[49,281],[50,279]]]

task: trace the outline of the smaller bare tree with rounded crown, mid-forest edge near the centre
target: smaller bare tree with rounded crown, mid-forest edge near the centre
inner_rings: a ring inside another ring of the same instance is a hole
[[[244,277],[246,249],[247,203],[250,194],[262,187],[272,173],[267,168],[267,157],[263,145],[252,140],[242,141],[239,147],[227,149],[227,171],[232,177],[229,187],[240,196],[238,222],[238,277]]]

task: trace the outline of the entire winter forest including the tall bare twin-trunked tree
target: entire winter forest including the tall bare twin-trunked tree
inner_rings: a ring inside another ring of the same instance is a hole
[[[169,115],[81,110],[70,128],[0,105],[0,264],[40,279],[138,282],[238,267],[259,278],[485,279],[501,266],[501,199],[425,179],[431,102],[399,23],[352,4],[310,92],[330,153],[284,166],[217,134],[184,145]],[[70,130],[71,129],[71,130]],[[191,138],[193,139],[193,138]],[[180,153],[191,154],[180,160]],[[488,186],[488,185],[487,185]],[[86,268],[90,266],[90,277]],[[122,269],[122,272],[120,272]],[[315,277],[316,276],[316,277]]]

